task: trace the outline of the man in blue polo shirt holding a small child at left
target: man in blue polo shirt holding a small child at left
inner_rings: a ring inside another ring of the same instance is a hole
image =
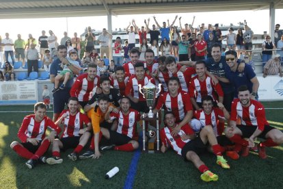
[[[65,45],[59,45],[57,47],[57,56],[58,59],[54,60],[50,67],[50,81],[54,84],[56,75],[62,71],[61,63],[67,65],[70,70],[78,75],[79,71],[75,66],[72,66],[70,62],[66,59],[67,56],[67,47]],[[63,83],[64,77],[62,81],[59,82],[59,86]],[[53,93],[53,121],[57,121],[60,113],[64,110],[65,104],[68,104],[68,99],[70,98],[70,89],[72,88],[72,84],[74,83],[73,79],[69,79],[66,83],[66,87],[63,90],[58,90]]]

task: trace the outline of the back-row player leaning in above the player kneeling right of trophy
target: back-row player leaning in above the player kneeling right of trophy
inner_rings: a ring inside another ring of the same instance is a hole
[[[196,69],[188,67],[184,72],[178,71],[176,60],[172,56],[168,56],[165,60],[166,68],[169,72],[170,77],[178,77],[180,80],[180,90],[185,92],[189,91],[189,81],[191,76],[196,74]]]

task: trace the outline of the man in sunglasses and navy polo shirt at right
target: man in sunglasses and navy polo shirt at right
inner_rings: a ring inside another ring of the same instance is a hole
[[[252,66],[245,65],[243,72],[238,71],[238,58],[236,51],[227,51],[226,62],[228,67],[225,68],[225,75],[229,79],[230,83],[235,87],[239,88],[239,86],[246,85],[252,94],[252,99],[256,99],[258,93],[259,82]],[[237,94],[234,94],[234,97],[237,98]]]

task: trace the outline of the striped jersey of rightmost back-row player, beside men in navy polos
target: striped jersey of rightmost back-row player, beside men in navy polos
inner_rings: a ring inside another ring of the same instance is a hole
[[[208,75],[206,75],[206,79],[204,79],[204,81],[200,81],[200,79],[198,79],[198,75],[191,78],[191,81],[189,82],[189,97],[193,98],[195,97],[195,94],[196,101],[198,103],[201,103],[202,97],[206,95],[213,97],[213,101],[218,100],[218,97],[224,96],[220,84],[218,83],[214,85],[211,77],[208,77]]]

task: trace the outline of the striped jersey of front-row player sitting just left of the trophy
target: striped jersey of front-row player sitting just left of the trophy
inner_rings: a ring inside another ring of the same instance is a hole
[[[139,112],[130,108],[129,114],[124,115],[121,111],[117,114],[111,112],[110,118],[111,120],[116,118],[118,121],[116,132],[129,136],[129,138],[137,136],[137,122],[140,120]]]

